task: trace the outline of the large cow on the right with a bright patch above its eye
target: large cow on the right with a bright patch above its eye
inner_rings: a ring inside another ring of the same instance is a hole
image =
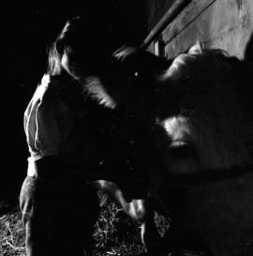
[[[206,255],[252,255],[252,67],[201,44],[169,63],[148,74],[129,66],[134,86],[144,90],[130,109],[141,122],[152,164],[147,197],[120,203],[146,222],[144,238],[155,230],[147,198],[171,214],[171,231],[157,248],[170,241],[179,250],[180,239],[181,247],[201,245]]]

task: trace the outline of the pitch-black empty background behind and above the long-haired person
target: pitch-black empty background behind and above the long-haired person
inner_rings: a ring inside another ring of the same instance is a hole
[[[129,35],[132,42],[138,45],[147,34],[144,2],[83,1],[81,5],[80,2],[75,4],[71,1],[70,5],[62,2],[55,6],[46,2],[44,6],[14,6],[13,3],[2,8],[1,134],[4,143],[1,151],[0,200],[18,193],[21,188],[28,157],[22,127],[23,112],[46,70],[47,49],[67,19],[86,15],[90,25],[99,24],[101,31],[110,22],[118,29],[119,35]],[[101,38],[101,47],[104,39],[107,38]]]

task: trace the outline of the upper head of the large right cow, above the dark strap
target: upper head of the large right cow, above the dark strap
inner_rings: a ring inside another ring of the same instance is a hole
[[[243,62],[194,46],[158,79],[151,136],[170,173],[251,162],[253,131]]]

